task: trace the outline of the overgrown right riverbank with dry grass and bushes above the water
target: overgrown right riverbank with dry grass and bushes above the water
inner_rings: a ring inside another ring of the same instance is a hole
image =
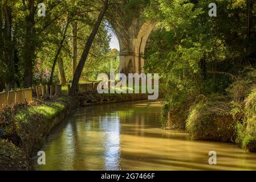
[[[241,89],[237,82],[230,86],[230,96],[190,96],[175,106],[167,101],[162,126],[186,131],[194,140],[231,142],[256,152],[256,90],[250,85]]]

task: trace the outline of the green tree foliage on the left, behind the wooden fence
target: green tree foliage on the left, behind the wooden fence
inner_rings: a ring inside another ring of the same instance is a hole
[[[34,6],[34,11],[29,8],[30,3]],[[88,36],[96,22],[99,10],[102,7],[102,1],[84,1],[84,0],[46,0],[46,16],[38,17],[38,7],[36,1],[5,1],[1,3],[0,14],[0,91],[5,88],[9,80],[15,82],[16,86],[22,87],[25,81],[26,73],[32,70],[32,82],[34,85],[40,83],[46,84],[51,75],[52,65],[55,57],[58,55],[60,42],[64,37],[62,51],[58,57],[62,57],[64,61],[64,71],[66,80],[72,80],[72,23],[78,23],[78,61],[82,56],[83,47]],[[118,5],[115,0],[111,1],[109,9],[114,5]],[[5,11],[3,6],[9,6],[11,10],[11,23],[13,25],[11,34],[11,50],[14,55],[15,73],[10,74],[11,68],[5,49],[7,45],[5,30]],[[30,16],[30,15],[34,16]],[[111,14],[111,12],[109,13]],[[31,26],[31,27],[30,27]],[[2,28],[3,27],[3,28]],[[66,35],[64,30],[67,27]],[[95,75],[102,71],[101,66],[107,67],[108,61],[111,61],[113,68],[116,69],[116,60],[112,60],[111,50],[109,49],[110,36],[104,23],[101,24],[100,30],[96,35],[94,44],[90,50],[86,67],[84,68],[82,80],[93,80]],[[32,61],[32,67],[28,68],[27,64]],[[93,67],[88,69],[88,67]],[[54,82],[59,83],[60,75],[55,67]],[[105,71],[105,70],[104,70]],[[109,70],[108,70],[109,72]],[[107,73],[108,73],[107,72]]]

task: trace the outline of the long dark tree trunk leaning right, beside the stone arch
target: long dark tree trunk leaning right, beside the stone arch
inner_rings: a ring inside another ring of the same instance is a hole
[[[105,0],[103,10],[101,10],[101,12],[100,12],[100,14],[97,18],[97,22],[94,26],[94,29],[92,30],[92,32],[91,32],[91,34],[90,34],[90,36],[89,36],[89,38],[86,42],[86,45],[84,47],[84,51],[83,51],[82,57],[81,57],[81,59],[78,63],[78,67],[76,67],[76,71],[75,71],[74,78],[73,78],[73,81],[72,81],[72,86],[71,86],[71,89],[70,89],[70,93],[68,93],[70,95],[74,95],[75,92],[76,92],[76,89],[78,88],[78,82],[79,82],[80,76],[82,74],[84,64],[86,63],[88,53],[90,51],[92,43],[94,42],[94,38],[97,34],[97,31],[99,30],[100,23],[102,22],[107,9],[108,9],[108,0]]]

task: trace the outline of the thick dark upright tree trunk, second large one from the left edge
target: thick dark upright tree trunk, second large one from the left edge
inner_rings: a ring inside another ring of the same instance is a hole
[[[33,62],[35,58],[35,46],[34,46],[34,26],[35,26],[35,1],[29,0],[29,15],[26,17],[27,30],[26,30],[26,40],[24,47],[24,87],[29,88],[32,86],[32,76],[33,76]]]

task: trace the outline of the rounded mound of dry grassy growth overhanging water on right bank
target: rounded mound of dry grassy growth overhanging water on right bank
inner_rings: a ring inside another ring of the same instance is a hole
[[[193,139],[234,142],[236,123],[230,109],[225,97],[201,100],[190,111],[186,129]]]

